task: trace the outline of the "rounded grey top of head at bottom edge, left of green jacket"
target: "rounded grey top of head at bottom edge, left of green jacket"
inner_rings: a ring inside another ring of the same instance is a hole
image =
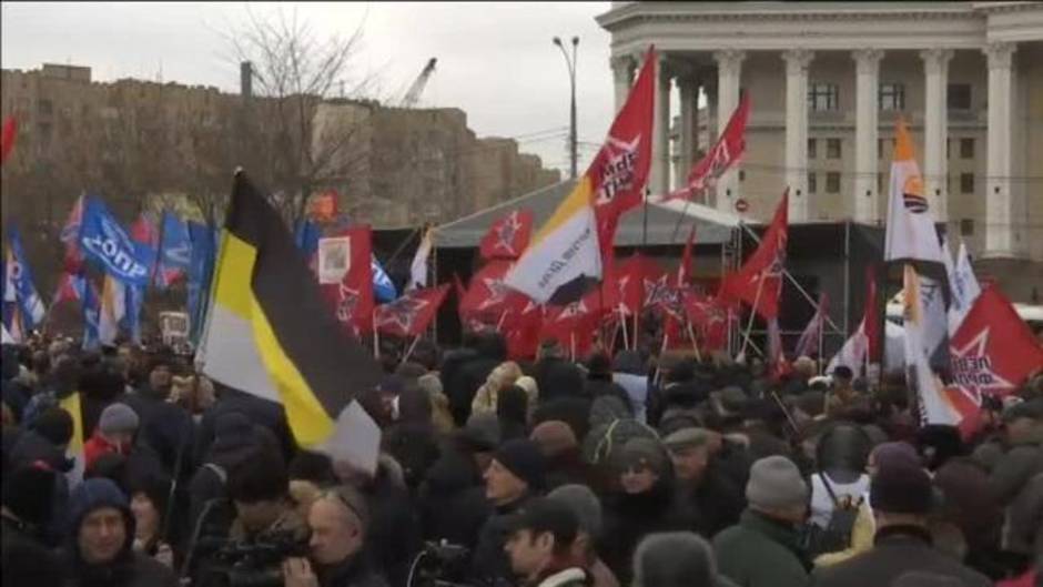
[[[646,536],[634,551],[634,587],[713,587],[713,548],[690,532]]]

